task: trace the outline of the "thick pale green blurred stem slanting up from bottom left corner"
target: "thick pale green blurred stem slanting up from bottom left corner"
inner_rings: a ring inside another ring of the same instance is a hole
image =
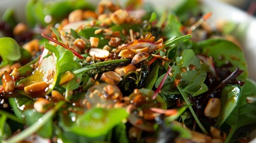
[[[40,129],[45,123],[50,120],[51,117],[54,116],[55,112],[64,104],[64,101],[58,102],[57,105],[50,111],[44,114],[37,122],[33,123],[32,126],[29,126],[27,129],[23,130],[22,132],[18,133],[17,135],[12,136],[11,138],[3,141],[3,143],[15,143],[15,142],[20,142],[23,139],[26,139],[33,133],[35,133],[38,129]]]

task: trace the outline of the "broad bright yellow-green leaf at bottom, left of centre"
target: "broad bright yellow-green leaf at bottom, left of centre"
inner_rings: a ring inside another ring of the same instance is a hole
[[[78,117],[71,130],[79,135],[90,137],[105,135],[127,117],[128,113],[123,108],[92,108]]]

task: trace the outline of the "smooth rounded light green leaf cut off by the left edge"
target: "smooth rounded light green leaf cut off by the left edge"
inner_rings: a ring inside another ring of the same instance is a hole
[[[0,56],[3,61],[17,61],[21,57],[20,46],[13,38],[0,38]]]

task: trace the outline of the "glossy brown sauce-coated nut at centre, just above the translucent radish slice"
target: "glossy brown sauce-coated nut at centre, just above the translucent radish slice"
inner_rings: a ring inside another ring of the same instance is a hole
[[[115,71],[107,71],[101,75],[100,79],[106,83],[117,85],[122,80],[122,77]]]

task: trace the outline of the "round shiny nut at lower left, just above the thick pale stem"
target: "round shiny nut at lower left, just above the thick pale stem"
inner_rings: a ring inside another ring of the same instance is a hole
[[[45,113],[48,110],[46,106],[50,103],[51,102],[46,100],[45,98],[38,98],[38,100],[36,100],[34,103],[34,109],[39,113]]]

